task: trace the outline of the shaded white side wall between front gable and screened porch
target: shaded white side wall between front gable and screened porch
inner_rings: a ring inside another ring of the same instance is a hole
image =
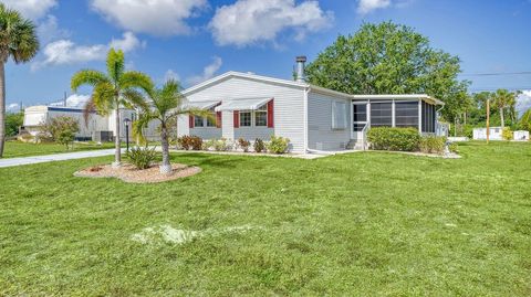
[[[332,102],[346,103],[346,128],[332,129]],[[351,100],[311,92],[308,96],[308,146],[311,149],[344,149],[351,140]]]

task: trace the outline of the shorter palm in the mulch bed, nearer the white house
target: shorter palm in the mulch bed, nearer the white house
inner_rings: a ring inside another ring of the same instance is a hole
[[[150,103],[139,106],[142,113],[138,116],[138,120],[133,124],[133,134],[142,140],[145,140],[144,129],[147,128],[149,123],[152,120],[160,123],[160,140],[163,147],[160,173],[169,174],[173,170],[169,163],[168,124],[179,115],[194,115],[208,117],[210,119],[214,119],[214,116],[209,110],[184,106],[180,85],[174,79],[168,79],[162,88],[155,89],[149,95]]]

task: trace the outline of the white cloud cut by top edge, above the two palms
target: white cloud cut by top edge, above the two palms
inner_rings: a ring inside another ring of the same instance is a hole
[[[153,35],[190,33],[186,20],[208,6],[207,0],[92,0],[107,22]]]

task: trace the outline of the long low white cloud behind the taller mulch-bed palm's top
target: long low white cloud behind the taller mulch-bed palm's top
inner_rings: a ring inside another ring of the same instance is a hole
[[[71,40],[58,40],[49,43],[43,54],[45,59],[32,64],[32,70],[38,70],[46,65],[64,65],[86,63],[91,61],[105,60],[107,51],[111,47],[132,52],[144,43],[140,42],[133,33],[125,32],[122,39],[113,39],[110,44],[77,45]]]

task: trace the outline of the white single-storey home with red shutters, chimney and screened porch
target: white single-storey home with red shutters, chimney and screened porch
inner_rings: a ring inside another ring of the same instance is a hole
[[[366,146],[371,127],[414,127],[436,134],[444,103],[427,95],[348,95],[296,81],[228,72],[184,91],[186,104],[211,110],[216,120],[180,117],[178,135],[204,139],[291,140],[290,150],[342,150]]]

